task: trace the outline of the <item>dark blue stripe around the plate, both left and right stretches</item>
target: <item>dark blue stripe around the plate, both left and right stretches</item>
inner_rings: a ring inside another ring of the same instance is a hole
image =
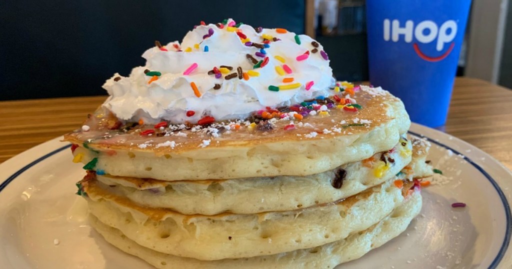
[[[415,132],[411,132],[409,131],[410,134],[414,135],[414,136],[417,136],[417,137],[422,137],[422,138],[425,138],[426,140],[440,146],[440,147],[443,147],[445,149],[448,149],[448,150],[451,150],[453,151],[455,154],[458,154],[458,155],[461,155],[461,156],[464,156],[463,154],[461,154],[460,152],[446,146],[445,144],[442,144],[434,139],[431,139],[429,137],[426,137],[426,136],[422,136],[420,134],[417,134]],[[16,173],[12,174],[9,178],[7,178],[7,180],[5,180],[4,182],[2,182],[2,184],[0,184],[0,192],[2,192],[2,190],[5,189],[5,187],[7,187],[7,185],[13,181],[16,177],[18,177],[20,174],[22,174],[23,172],[27,171],[29,168],[33,167],[35,164],[37,164],[38,162],[41,162],[42,160],[56,154],[56,153],[59,153],[67,148],[71,147],[71,144],[69,145],[66,145],[64,147],[61,147],[59,149],[56,149],[40,158],[38,158],[37,160],[34,160],[32,161],[31,163],[25,165],[25,167],[23,167],[22,169],[16,171]],[[498,264],[500,263],[501,259],[503,258],[503,256],[505,255],[505,252],[507,251],[507,247],[510,243],[510,238],[512,236],[512,213],[510,213],[510,205],[508,204],[508,201],[505,197],[505,195],[503,194],[503,191],[500,189],[500,187],[498,186],[498,183],[496,183],[496,181],[493,179],[493,177],[491,177],[487,172],[485,172],[485,170],[483,170],[483,168],[480,167],[480,165],[476,164],[475,162],[473,162],[470,158],[467,158],[466,156],[464,156],[464,160],[467,161],[468,163],[470,163],[471,165],[473,165],[473,167],[475,167],[478,171],[480,171],[480,173],[482,173],[482,175],[484,175],[487,180],[489,180],[489,182],[493,185],[494,189],[496,190],[496,192],[498,193],[498,195],[500,196],[500,199],[503,203],[503,209],[505,211],[505,216],[506,216],[506,231],[505,231],[505,238],[503,239],[503,243],[501,245],[501,248],[500,248],[500,251],[498,252],[498,255],[496,256],[496,258],[494,258],[493,262],[490,264],[489,266],[489,269],[494,269],[498,266]]]

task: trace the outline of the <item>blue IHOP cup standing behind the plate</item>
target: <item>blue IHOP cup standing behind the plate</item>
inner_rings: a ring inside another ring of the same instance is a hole
[[[411,120],[446,122],[471,0],[367,0],[370,82]]]

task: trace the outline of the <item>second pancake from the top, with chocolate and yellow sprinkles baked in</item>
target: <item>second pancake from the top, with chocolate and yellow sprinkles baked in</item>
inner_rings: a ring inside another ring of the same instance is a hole
[[[406,164],[414,167],[415,170],[412,171],[421,169],[432,173],[430,165],[418,156],[418,152],[426,152],[426,148],[416,147],[412,152],[415,156],[412,162],[411,148],[410,141],[401,139],[390,151],[304,177],[193,181],[161,181],[110,175],[97,175],[96,178],[104,184],[103,188],[109,188],[110,192],[126,197],[138,205],[167,208],[186,215],[288,211],[355,195],[391,179]],[[409,169],[403,172],[408,171]],[[422,173],[412,177],[424,176]]]

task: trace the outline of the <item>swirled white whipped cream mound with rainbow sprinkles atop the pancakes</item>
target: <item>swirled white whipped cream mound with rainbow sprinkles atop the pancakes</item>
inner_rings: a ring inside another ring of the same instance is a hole
[[[116,73],[103,85],[110,95],[103,106],[119,119],[241,119],[266,107],[328,96],[335,83],[327,54],[311,37],[232,19],[197,26],[181,44],[155,46],[142,57],[145,66],[128,77]]]

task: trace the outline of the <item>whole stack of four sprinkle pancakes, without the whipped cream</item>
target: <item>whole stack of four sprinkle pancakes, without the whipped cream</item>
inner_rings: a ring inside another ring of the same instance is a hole
[[[266,128],[252,117],[155,129],[100,108],[90,129],[65,136],[86,163],[77,185],[91,225],[158,268],[357,259],[406,229],[421,209],[418,179],[432,169],[428,142],[405,135],[398,98],[364,86],[351,98],[364,109],[334,107],[291,130],[287,117]]]

